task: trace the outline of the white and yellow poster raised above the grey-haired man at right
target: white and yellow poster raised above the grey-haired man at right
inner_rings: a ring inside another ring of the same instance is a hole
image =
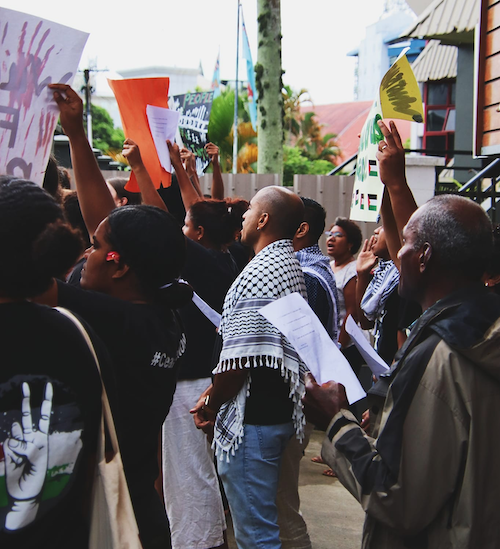
[[[382,78],[377,99],[368,114],[358,149],[350,218],[378,220],[384,185],[380,180],[377,150],[384,139],[378,121],[387,118],[424,121],[420,88],[404,50]]]

